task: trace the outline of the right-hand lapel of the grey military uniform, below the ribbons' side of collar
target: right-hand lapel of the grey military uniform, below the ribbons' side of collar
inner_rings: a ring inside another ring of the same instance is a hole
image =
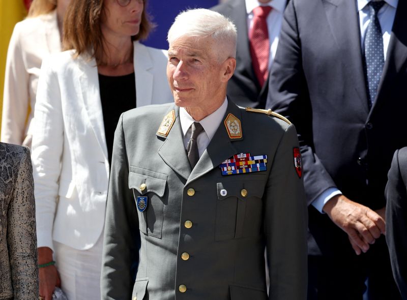
[[[228,101],[225,116],[222,119],[222,123],[219,125],[214,137],[209,143],[207,149],[201,155],[195,168],[192,170],[191,175],[188,178],[187,184],[194,181],[195,179],[205,175],[209,171],[217,168],[224,160],[237,154],[237,150],[233,145],[235,140],[242,140],[244,137],[244,130],[242,138],[230,139],[226,127],[223,123],[225,117],[229,114],[235,115],[242,122],[241,111],[238,106],[231,101]],[[242,128],[244,127],[242,123]],[[219,173],[221,170],[219,169]]]

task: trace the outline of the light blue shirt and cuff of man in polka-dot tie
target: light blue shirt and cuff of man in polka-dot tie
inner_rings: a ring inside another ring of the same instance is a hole
[[[377,0],[378,1],[378,0]],[[398,0],[384,0],[385,4],[377,13],[377,18],[379,18],[380,26],[382,28],[383,35],[383,51],[386,61],[387,49],[389,47],[391,29],[393,27],[394,17],[396,15],[396,8]],[[364,53],[364,40],[366,36],[367,26],[370,22],[370,10],[368,7],[369,0],[356,0],[356,5],[359,13],[359,23],[360,23],[360,42],[362,46],[362,52]],[[324,205],[336,195],[342,194],[337,188],[328,188],[321,195],[319,195],[313,202],[312,205],[318,209],[319,212],[323,212]]]

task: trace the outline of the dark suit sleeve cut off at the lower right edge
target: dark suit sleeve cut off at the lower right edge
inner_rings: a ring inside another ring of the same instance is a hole
[[[407,147],[394,153],[386,186],[386,241],[394,279],[407,299]]]

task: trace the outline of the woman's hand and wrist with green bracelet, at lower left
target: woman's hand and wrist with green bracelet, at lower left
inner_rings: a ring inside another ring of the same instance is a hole
[[[38,248],[38,263],[44,264],[52,261],[52,250],[48,247]],[[39,269],[40,277],[40,296],[44,300],[52,300],[52,293],[55,286],[61,287],[61,280],[54,265],[41,267]]]

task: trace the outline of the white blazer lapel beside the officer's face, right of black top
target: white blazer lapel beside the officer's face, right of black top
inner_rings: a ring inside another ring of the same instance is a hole
[[[136,74],[137,107],[150,105],[153,95],[153,62],[146,46],[134,42],[134,72]]]

